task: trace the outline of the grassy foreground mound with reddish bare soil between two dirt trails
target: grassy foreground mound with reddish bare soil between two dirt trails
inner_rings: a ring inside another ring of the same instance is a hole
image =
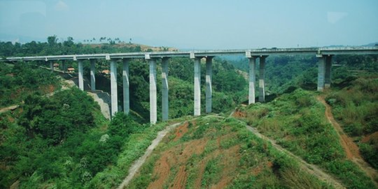
[[[128,188],[328,188],[233,118],[204,117],[163,139]]]

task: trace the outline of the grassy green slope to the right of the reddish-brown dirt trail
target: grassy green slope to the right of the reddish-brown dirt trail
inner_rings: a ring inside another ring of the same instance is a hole
[[[363,158],[378,169],[378,76],[352,80],[342,90],[332,90],[326,98],[344,132],[357,137]]]

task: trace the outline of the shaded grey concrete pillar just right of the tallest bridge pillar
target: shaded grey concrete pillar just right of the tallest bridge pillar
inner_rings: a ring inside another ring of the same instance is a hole
[[[168,58],[162,59],[162,120],[168,120],[169,102],[168,102]]]

